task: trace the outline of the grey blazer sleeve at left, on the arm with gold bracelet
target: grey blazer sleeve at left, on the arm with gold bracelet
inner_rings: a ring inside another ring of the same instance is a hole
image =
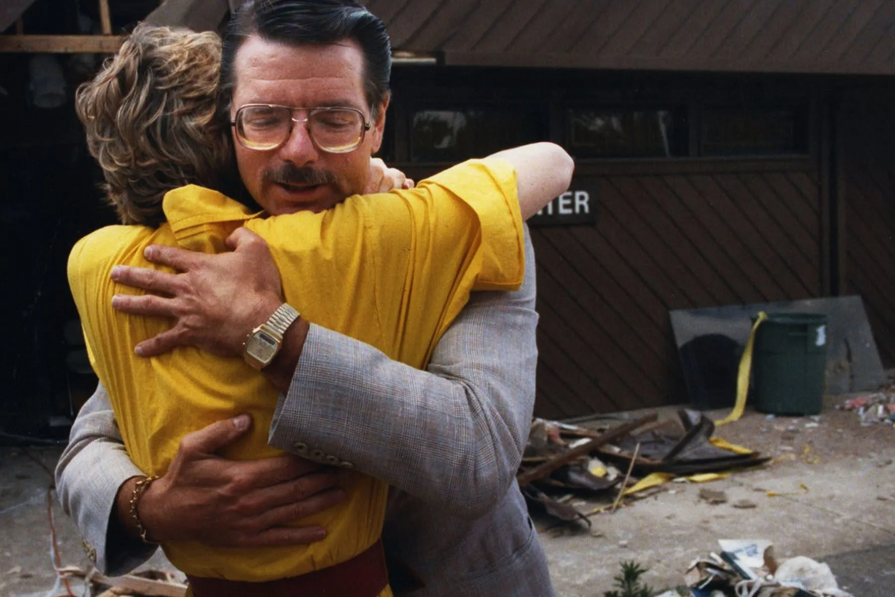
[[[157,549],[141,542],[118,543],[115,550],[108,545],[118,488],[142,474],[124,449],[106,388],[99,384],[72,423],[68,446],[56,465],[55,482],[59,501],[78,526],[88,557],[107,576],[127,574]]]

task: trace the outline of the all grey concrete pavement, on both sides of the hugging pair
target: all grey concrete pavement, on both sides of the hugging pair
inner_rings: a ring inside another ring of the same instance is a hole
[[[857,597],[895,595],[895,430],[861,427],[857,415],[832,409],[837,401],[827,401],[816,427],[809,418],[768,421],[747,414],[718,431],[778,457],[763,469],[705,485],[669,483],[614,514],[594,516],[591,532],[537,518],[547,529],[541,540],[559,595],[601,597],[619,562],[629,559],[650,568],[645,580],[655,588],[680,584],[692,559],[718,550],[718,539],[732,538],[769,539],[780,559],[826,561]],[[60,452],[0,448],[0,597],[64,594],[50,593],[55,572],[48,503],[62,563],[89,566],[72,521],[55,498],[47,501]],[[728,502],[708,504],[698,497],[702,487],[725,491]],[[769,497],[769,490],[780,495]],[[755,507],[733,507],[740,499]],[[149,565],[166,566],[160,557]]]

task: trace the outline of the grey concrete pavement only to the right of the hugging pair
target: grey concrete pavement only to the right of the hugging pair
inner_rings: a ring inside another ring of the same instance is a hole
[[[743,538],[770,540],[779,560],[826,561],[840,588],[856,597],[895,595],[895,430],[861,427],[856,414],[832,410],[834,402],[827,400],[817,427],[806,417],[768,421],[750,413],[717,431],[777,456],[771,465],[705,484],[669,483],[614,514],[594,516],[591,532],[545,530],[541,541],[558,593],[601,597],[619,563],[630,559],[650,568],[644,580],[655,588],[682,584],[693,559],[719,550],[717,540]],[[710,505],[699,498],[703,487],[724,491],[728,502]],[[742,499],[754,507],[733,506]]]

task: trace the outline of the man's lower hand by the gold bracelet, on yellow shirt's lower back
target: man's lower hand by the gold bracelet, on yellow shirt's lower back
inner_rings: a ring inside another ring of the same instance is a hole
[[[139,502],[150,540],[261,547],[305,545],[326,536],[320,526],[284,525],[345,499],[345,491],[335,489],[341,473],[297,456],[235,462],[215,455],[250,426],[243,414],[183,438],[165,476]],[[132,537],[139,536],[130,515],[135,482],[125,482],[116,500],[118,520]]]

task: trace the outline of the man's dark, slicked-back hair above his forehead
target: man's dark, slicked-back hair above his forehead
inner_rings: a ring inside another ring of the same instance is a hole
[[[388,96],[391,43],[379,17],[354,0],[249,0],[227,25],[221,56],[222,107],[229,112],[235,85],[234,60],[246,38],[300,46],[325,45],[354,39],[364,57],[364,93],[371,114]],[[227,115],[229,117],[229,115]]]

